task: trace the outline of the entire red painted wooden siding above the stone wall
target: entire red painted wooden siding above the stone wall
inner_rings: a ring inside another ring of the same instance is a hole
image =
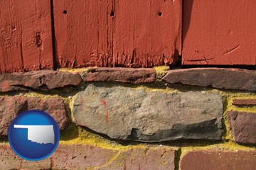
[[[198,67],[255,65],[254,21],[247,0],[0,0],[0,74],[154,67],[178,55]]]

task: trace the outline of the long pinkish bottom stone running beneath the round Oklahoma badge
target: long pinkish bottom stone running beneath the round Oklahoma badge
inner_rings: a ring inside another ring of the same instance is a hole
[[[9,145],[0,145],[0,169],[174,169],[170,147],[132,147],[113,150],[90,145],[59,145],[40,162],[26,162]]]

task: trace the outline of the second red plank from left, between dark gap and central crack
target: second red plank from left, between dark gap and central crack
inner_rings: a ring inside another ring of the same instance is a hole
[[[59,67],[107,67],[110,0],[53,1],[55,45]]]

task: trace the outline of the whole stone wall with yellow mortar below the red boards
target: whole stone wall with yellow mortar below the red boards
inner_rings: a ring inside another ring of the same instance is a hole
[[[1,74],[0,169],[254,169],[255,80],[253,70],[219,68]],[[40,162],[20,159],[6,138],[28,109],[61,130]]]

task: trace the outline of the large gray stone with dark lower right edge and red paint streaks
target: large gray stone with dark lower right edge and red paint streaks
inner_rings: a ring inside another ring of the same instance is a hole
[[[120,140],[220,140],[223,101],[213,92],[90,84],[75,96],[73,116],[78,125]]]

